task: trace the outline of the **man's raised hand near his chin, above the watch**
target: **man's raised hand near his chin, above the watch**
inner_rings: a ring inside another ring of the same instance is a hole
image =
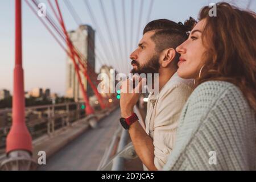
[[[138,82],[138,85],[133,88],[133,83]],[[133,77],[133,80],[126,79],[122,82],[121,85],[121,98],[120,98],[120,107],[121,107],[121,117],[128,118],[133,114],[133,107],[139,100],[141,95],[143,78]]]

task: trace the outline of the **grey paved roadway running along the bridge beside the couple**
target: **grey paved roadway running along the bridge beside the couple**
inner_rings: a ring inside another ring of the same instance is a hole
[[[89,129],[67,146],[46,160],[46,166],[38,170],[96,170],[114,131],[119,126],[120,110],[113,111],[98,123],[97,129]]]

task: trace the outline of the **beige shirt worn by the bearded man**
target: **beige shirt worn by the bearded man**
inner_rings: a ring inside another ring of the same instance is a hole
[[[173,150],[181,110],[193,90],[193,80],[175,73],[147,103],[146,133],[154,140],[155,167],[162,169]]]

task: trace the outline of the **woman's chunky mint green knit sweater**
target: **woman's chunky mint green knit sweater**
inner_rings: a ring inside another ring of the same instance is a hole
[[[197,86],[179,122],[164,170],[256,169],[256,116],[237,86],[225,81]]]

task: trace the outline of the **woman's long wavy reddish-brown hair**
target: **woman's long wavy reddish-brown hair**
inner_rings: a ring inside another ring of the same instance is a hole
[[[206,20],[203,31],[205,67],[198,84],[209,80],[237,85],[256,111],[256,14],[229,3],[217,3],[217,16],[203,7],[199,20]]]

